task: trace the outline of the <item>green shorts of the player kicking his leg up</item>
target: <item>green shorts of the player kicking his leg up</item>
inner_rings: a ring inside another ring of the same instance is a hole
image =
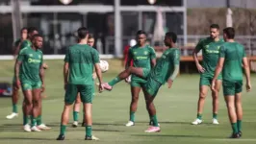
[[[161,85],[162,84],[160,84],[156,80],[153,80],[152,78],[148,78],[147,82],[144,84],[144,88],[146,92],[150,94],[150,96],[155,97]]]

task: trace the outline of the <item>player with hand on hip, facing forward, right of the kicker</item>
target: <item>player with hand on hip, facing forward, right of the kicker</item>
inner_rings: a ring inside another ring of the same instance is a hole
[[[218,63],[219,47],[224,43],[222,38],[219,38],[219,26],[218,24],[212,24],[210,26],[210,36],[201,39],[193,50],[193,59],[196,67],[200,73],[199,82],[199,99],[197,103],[197,117],[192,122],[192,125],[198,125],[202,123],[202,113],[205,98],[208,93],[208,87],[212,84],[215,69]],[[197,59],[197,53],[202,50],[202,65]],[[218,125],[218,91],[221,85],[221,75],[218,76],[216,81],[217,89],[212,91],[213,98],[213,120],[212,123]]]

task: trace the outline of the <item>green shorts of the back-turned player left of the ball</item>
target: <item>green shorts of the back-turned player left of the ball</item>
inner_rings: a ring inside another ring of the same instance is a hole
[[[79,92],[81,101],[83,103],[91,104],[94,91],[94,84],[67,84],[64,94],[64,102],[67,104],[73,104]]]

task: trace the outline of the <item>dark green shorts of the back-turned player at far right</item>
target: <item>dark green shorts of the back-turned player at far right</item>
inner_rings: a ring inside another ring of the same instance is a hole
[[[243,91],[243,80],[236,82],[223,81],[222,86],[224,96],[235,95]]]

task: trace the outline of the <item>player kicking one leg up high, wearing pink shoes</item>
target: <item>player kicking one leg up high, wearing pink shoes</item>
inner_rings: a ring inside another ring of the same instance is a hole
[[[170,88],[174,79],[178,75],[180,51],[178,48],[175,48],[176,40],[176,34],[172,32],[166,33],[165,44],[168,49],[163,53],[160,60],[157,61],[156,66],[151,69],[150,74],[147,77],[146,83],[142,86],[142,89],[145,92],[146,108],[148,109],[150,119],[153,122],[153,126],[149,127],[149,129],[145,132],[160,132],[160,127],[158,124],[156,109],[154,107],[153,100],[162,84],[165,84],[167,82],[168,88]],[[129,67],[119,75],[120,77],[117,77],[116,79],[127,78],[131,73],[131,69],[133,68]],[[107,90],[112,89],[112,86],[110,84],[103,84],[103,87]]]

